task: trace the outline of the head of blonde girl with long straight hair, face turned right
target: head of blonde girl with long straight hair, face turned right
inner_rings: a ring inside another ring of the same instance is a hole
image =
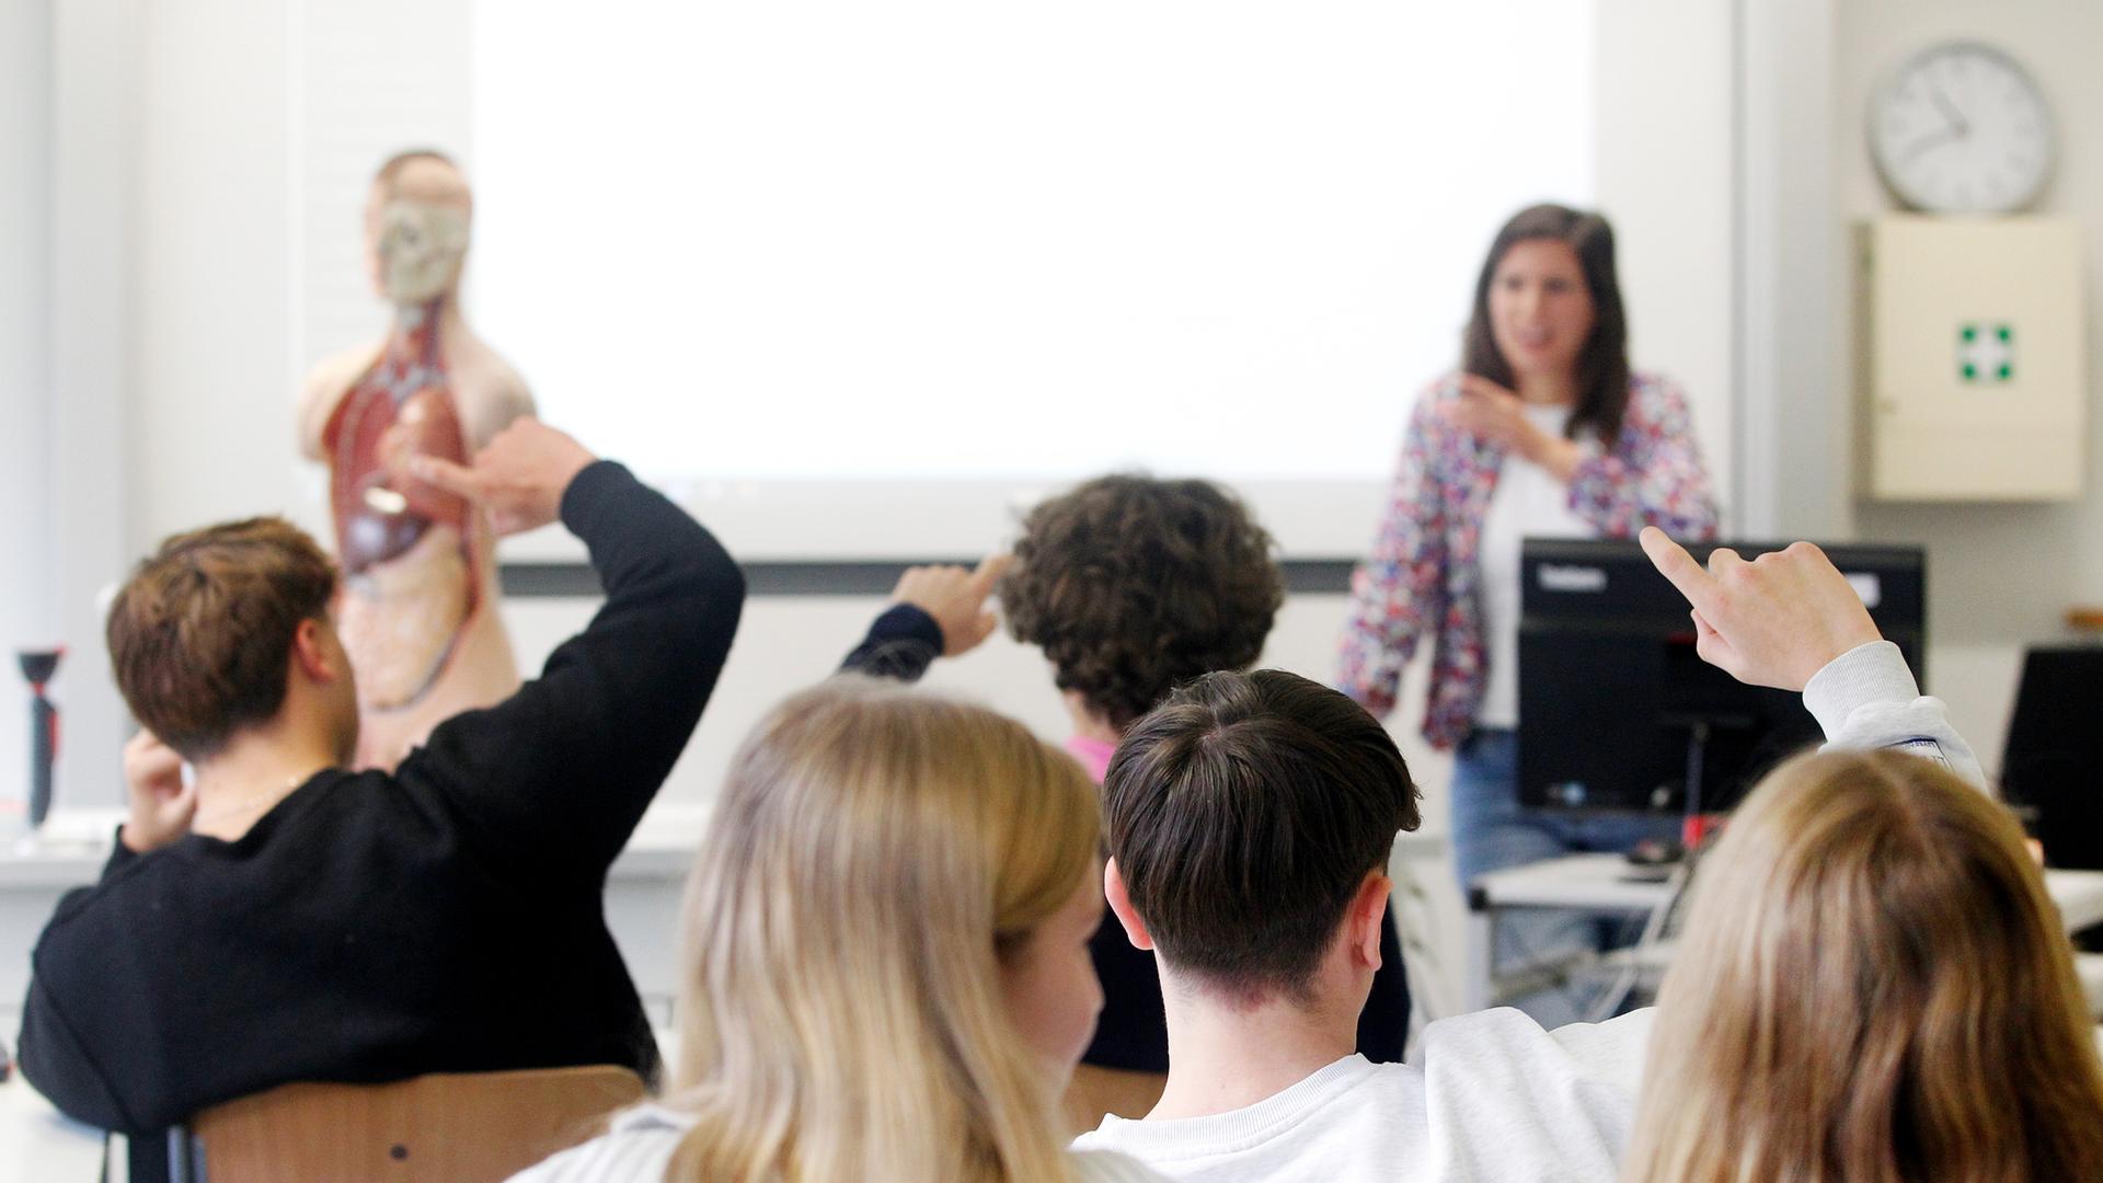
[[[1096,789],[1022,724],[841,676],[732,762],[686,901],[671,1179],[1064,1179],[1102,1006]]]

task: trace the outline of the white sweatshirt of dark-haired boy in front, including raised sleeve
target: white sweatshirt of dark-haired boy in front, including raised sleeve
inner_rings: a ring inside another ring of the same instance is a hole
[[[1985,787],[1939,699],[1899,646],[1857,646],[1804,686],[1828,749],[1901,747]],[[1104,1118],[1077,1149],[1115,1149],[1169,1179],[1563,1183],[1619,1177],[1653,1010],[1544,1031],[1518,1010],[1441,1019],[1413,1063],[1340,1059],[1255,1105],[1163,1122]]]

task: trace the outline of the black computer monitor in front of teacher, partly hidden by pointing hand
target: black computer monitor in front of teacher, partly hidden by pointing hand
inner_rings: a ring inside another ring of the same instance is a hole
[[[1718,545],[1756,558],[1777,543]],[[1825,547],[1922,669],[1920,547]],[[1798,695],[1745,686],[1695,655],[1687,600],[1634,541],[1527,539],[1520,549],[1518,800],[1529,808],[1701,813],[1737,804],[1769,768],[1819,743]]]

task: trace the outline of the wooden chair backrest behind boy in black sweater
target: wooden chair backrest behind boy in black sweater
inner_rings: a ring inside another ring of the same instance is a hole
[[[644,1099],[627,1067],[433,1074],[395,1084],[284,1084],[191,1120],[210,1183],[479,1183],[606,1130]]]

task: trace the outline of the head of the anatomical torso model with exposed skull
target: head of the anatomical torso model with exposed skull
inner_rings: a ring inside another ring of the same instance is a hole
[[[389,156],[366,196],[372,290],[416,305],[458,286],[473,210],[467,177],[444,152],[416,147]]]

